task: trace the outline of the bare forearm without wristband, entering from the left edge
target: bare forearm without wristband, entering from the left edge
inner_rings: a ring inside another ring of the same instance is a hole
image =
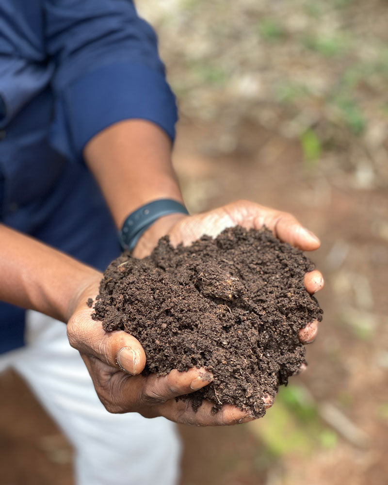
[[[0,300],[63,322],[81,292],[101,277],[93,268],[0,225]]]

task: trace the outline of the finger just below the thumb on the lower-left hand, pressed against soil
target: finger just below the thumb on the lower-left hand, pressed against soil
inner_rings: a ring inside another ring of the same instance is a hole
[[[151,374],[143,391],[147,404],[164,403],[184,394],[197,391],[210,384],[213,376],[205,369],[189,369],[179,372],[176,369],[167,375]]]

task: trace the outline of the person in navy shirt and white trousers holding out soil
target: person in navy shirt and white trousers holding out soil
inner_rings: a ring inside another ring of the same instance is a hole
[[[213,415],[206,402],[194,413],[175,397],[208,385],[209,372],[144,377],[140,342],[91,319],[117,229],[139,258],[163,235],[189,244],[238,224],[265,224],[307,251],[320,242],[248,201],[186,213],[171,164],[175,97],[132,1],[3,0],[0,72],[0,367],[26,379],[69,437],[78,484],[175,484],[174,422],[252,418],[230,405]],[[318,291],[322,275],[305,286]],[[316,331],[310,323],[301,341]]]

